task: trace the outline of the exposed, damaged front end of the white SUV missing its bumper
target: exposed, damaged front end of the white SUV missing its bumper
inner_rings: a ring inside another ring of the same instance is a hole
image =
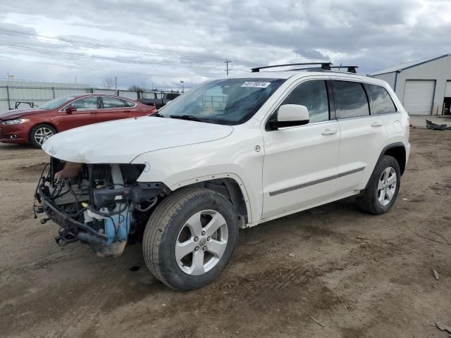
[[[85,164],[51,158],[35,193],[35,214],[60,225],[56,243],[89,244],[118,256],[140,240],[152,209],[171,191],[161,182],[137,182],[145,165]]]

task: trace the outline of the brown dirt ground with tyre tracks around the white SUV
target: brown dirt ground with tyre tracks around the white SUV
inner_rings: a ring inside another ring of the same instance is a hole
[[[448,337],[434,324],[451,326],[451,132],[411,143],[389,213],[346,199],[242,230],[219,280],[185,293],[139,245],[59,248],[32,213],[47,156],[0,145],[0,337]]]

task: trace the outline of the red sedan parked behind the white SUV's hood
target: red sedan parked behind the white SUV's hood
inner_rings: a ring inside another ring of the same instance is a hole
[[[57,132],[82,125],[150,115],[155,107],[120,96],[69,95],[46,102],[39,108],[0,113],[0,142],[41,147]]]

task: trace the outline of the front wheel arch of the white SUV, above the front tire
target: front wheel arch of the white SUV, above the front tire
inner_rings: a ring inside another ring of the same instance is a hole
[[[251,222],[252,211],[249,196],[245,184],[237,175],[221,173],[196,177],[174,184],[170,189],[172,192],[176,192],[186,187],[201,187],[223,194],[233,204],[240,220],[240,227],[245,227],[247,223]]]

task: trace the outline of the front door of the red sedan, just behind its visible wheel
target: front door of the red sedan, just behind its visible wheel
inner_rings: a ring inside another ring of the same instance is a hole
[[[70,106],[77,110],[66,112]],[[99,106],[99,96],[87,96],[71,102],[58,113],[58,132],[99,122],[97,117]]]

